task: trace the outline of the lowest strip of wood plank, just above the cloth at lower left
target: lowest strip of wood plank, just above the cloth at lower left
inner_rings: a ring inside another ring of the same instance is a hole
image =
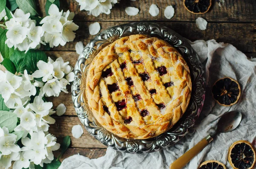
[[[77,155],[78,153],[90,159],[99,158],[105,155],[106,151],[107,149],[68,148],[64,155],[60,158],[60,161],[62,162],[65,158],[68,158],[71,155]],[[58,157],[60,153],[61,149],[53,152],[55,157]]]

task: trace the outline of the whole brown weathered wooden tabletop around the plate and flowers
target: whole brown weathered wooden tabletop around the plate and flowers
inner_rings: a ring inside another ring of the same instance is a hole
[[[53,58],[63,57],[71,65],[75,65],[78,54],[75,51],[77,42],[82,41],[86,45],[95,36],[89,34],[88,25],[99,22],[101,31],[111,26],[130,22],[148,21],[161,23],[182,35],[183,37],[195,41],[198,39],[216,39],[217,42],[233,44],[237,49],[244,52],[248,57],[255,57],[256,54],[256,1],[255,0],[225,0],[224,6],[219,7],[217,0],[212,0],[212,7],[206,14],[192,14],[183,7],[182,0],[120,0],[116,4],[111,14],[100,14],[99,17],[88,15],[87,11],[80,11],[79,4],[75,0],[60,0],[61,9],[69,9],[75,12],[74,22],[79,25],[76,31],[76,39],[68,42],[65,46],[58,46],[51,51],[47,51],[48,56]],[[42,14],[45,15],[44,6],[46,0],[38,0]],[[152,17],[149,7],[155,3],[160,8],[160,14]],[[175,8],[175,15],[171,20],[164,17],[166,6],[172,5]],[[128,6],[140,9],[136,16],[128,16],[125,8]],[[195,25],[197,17],[203,17],[208,25],[205,31],[199,30]],[[69,90],[70,91],[70,90]],[[105,155],[106,146],[93,138],[85,129],[81,138],[73,138],[71,129],[76,124],[81,124],[73,107],[71,93],[61,93],[58,98],[50,99],[54,108],[60,103],[64,103],[67,112],[61,117],[54,116],[56,124],[51,125],[49,132],[57,137],[57,142],[61,143],[62,138],[70,135],[72,144],[61,161],[70,155],[79,153],[88,158],[99,158]],[[59,151],[55,152],[58,155]]]

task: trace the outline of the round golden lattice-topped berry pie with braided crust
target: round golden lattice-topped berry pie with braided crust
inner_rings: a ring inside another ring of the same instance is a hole
[[[97,121],[134,139],[169,130],[189,104],[192,82],[183,57],[156,37],[131,35],[96,55],[88,69],[86,97]]]

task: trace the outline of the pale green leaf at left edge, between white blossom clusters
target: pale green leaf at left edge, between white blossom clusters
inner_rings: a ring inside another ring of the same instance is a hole
[[[8,111],[0,111],[0,127],[7,127],[12,132],[17,125],[17,115]]]

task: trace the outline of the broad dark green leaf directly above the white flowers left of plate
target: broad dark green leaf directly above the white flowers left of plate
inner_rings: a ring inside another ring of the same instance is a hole
[[[44,51],[38,51],[38,50],[29,50],[26,53],[26,66],[27,71],[29,74],[32,74],[35,72],[35,70],[38,70],[37,62],[39,60],[42,60],[44,62],[47,62],[47,55]]]

